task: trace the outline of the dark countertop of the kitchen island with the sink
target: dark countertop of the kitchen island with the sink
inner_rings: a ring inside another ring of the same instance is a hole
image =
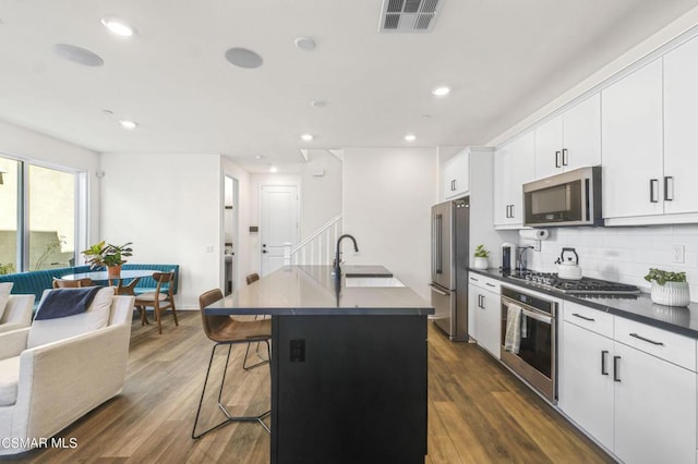
[[[342,273],[345,269],[351,266]],[[344,276],[337,286],[332,266],[285,266],[207,306],[206,314],[424,316],[434,308],[409,286],[347,288]]]

